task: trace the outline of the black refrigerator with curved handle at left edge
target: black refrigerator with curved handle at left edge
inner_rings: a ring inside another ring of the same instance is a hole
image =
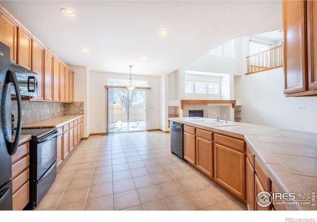
[[[10,70],[10,48],[0,42],[0,210],[12,210],[12,158],[21,133],[21,96],[13,70]],[[11,84],[18,103],[16,136],[12,142]]]

